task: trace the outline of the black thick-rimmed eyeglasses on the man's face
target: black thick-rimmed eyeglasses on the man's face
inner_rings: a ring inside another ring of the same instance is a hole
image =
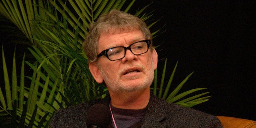
[[[117,46],[117,47],[113,47],[110,49],[106,49],[106,50],[102,51],[101,53],[99,53],[99,55],[97,57],[99,58],[102,55],[105,55],[111,61],[120,60],[125,57],[127,49],[129,49],[132,52],[132,54],[134,54],[134,55],[141,55],[143,53],[148,52],[148,48],[149,48],[150,44],[151,44],[150,40],[141,40],[141,41],[131,44],[128,47]]]

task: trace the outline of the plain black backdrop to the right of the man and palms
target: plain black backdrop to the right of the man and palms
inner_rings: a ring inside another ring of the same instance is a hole
[[[154,11],[152,18],[161,18],[150,31],[164,26],[164,33],[153,39],[155,46],[161,44],[158,72],[167,58],[170,77],[179,60],[173,86],[194,71],[181,92],[206,87],[212,95],[193,108],[256,120],[255,2],[140,0],[135,4],[141,9],[150,2],[146,12]]]

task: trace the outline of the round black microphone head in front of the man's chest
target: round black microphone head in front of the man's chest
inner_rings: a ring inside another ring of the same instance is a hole
[[[111,122],[110,109],[104,104],[94,104],[88,109],[86,115],[88,128],[108,128]]]

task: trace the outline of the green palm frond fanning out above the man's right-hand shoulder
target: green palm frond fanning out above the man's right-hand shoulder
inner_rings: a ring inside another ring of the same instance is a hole
[[[191,93],[194,93],[199,90],[204,90],[206,88],[194,88],[194,89],[185,91],[185,92],[177,95],[179,93],[179,90],[183,87],[185,82],[188,80],[188,78],[193,73],[190,73],[185,79],[183,79],[183,81],[172,92],[170,92],[170,86],[172,84],[172,80],[173,80],[174,73],[176,71],[178,62],[174,66],[172,75],[170,76],[170,78],[168,80],[168,84],[164,84],[164,79],[165,79],[165,75],[166,75],[166,65],[167,65],[167,60],[165,61],[165,64],[163,67],[160,84],[157,84],[157,69],[154,71],[154,84],[153,84],[153,88],[151,88],[154,95],[158,96],[159,98],[165,99],[169,103],[175,103],[175,104],[179,104],[181,106],[185,106],[185,107],[189,107],[189,108],[192,106],[195,106],[196,104],[201,104],[201,103],[209,100],[209,98],[211,96],[201,97],[203,95],[206,95],[209,92],[194,95],[192,97],[186,97],[186,96],[190,95]],[[159,85],[159,86],[157,86],[157,85]],[[164,87],[165,87],[165,89],[164,89]],[[184,97],[186,97],[186,98],[184,98]]]

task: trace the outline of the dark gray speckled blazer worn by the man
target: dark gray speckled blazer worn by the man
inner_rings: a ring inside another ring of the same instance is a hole
[[[86,127],[86,111],[93,104],[110,103],[110,96],[57,110],[50,124],[51,128]],[[150,94],[150,101],[142,119],[142,128],[222,128],[221,122],[214,115],[186,108]]]

